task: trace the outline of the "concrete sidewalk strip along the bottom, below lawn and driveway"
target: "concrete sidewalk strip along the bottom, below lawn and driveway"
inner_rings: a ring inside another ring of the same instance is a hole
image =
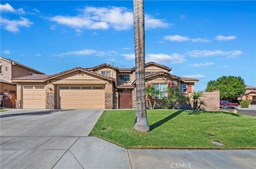
[[[127,150],[91,136],[1,141],[1,168],[256,168],[256,150]]]

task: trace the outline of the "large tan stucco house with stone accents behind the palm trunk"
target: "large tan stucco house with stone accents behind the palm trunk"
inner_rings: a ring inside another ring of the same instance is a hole
[[[155,62],[146,63],[146,83],[153,83],[162,91],[168,84],[177,85],[183,94],[194,91],[197,79],[172,75],[171,70]],[[125,109],[136,106],[135,68],[117,68],[104,63],[54,75],[13,78],[12,82],[17,83],[17,108]]]

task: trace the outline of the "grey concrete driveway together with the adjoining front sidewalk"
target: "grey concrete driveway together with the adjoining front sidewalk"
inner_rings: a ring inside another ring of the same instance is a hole
[[[256,168],[256,150],[127,150],[87,136],[102,111],[1,112],[0,168]]]

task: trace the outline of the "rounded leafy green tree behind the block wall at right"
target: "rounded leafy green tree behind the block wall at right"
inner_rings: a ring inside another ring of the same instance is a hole
[[[216,81],[207,83],[206,92],[220,90],[220,99],[235,100],[238,96],[245,93],[244,79],[240,76],[222,76]]]

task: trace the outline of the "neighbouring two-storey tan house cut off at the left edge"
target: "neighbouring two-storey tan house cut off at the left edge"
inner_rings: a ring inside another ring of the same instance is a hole
[[[35,70],[28,66],[22,65],[21,63],[15,62],[11,59],[0,57],[0,94],[1,94],[1,105],[11,107],[10,99],[4,100],[4,95],[9,98],[10,95],[16,94],[16,84],[12,83],[12,78],[33,75],[33,74],[44,74],[41,71]],[[7,103],[8,102],[8,103]]]

